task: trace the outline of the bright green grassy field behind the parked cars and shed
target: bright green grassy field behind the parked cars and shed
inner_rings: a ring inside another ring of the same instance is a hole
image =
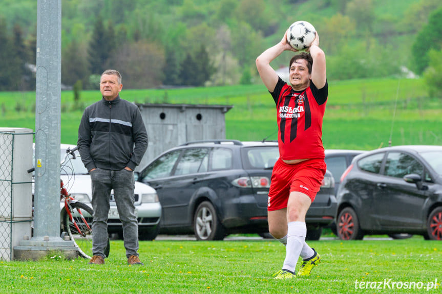
[[[442,102],[426,97],[423,79],[333,81],[323,123],[325,148],[371,150],[392,145],[442,144]],[[276,107],[262,85],[181,89],[124,89],[121,97],[138,103],[233,105],[226,114],[226,139],[277,140]],[[61,142],[76,144],[82,109],[99,100],[81,92],[73,110],[72,92],[61,93]],[[20,109],[20,111],[17,111]],[[0,127],[35,130],[35,93],[0,92]]]

